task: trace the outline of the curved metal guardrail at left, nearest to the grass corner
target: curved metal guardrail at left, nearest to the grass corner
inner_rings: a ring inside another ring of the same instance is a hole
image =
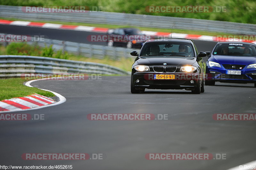
[[[106,64],[50,57],[0,55],[0,78],[20,77],[24,73],[130,74]]]

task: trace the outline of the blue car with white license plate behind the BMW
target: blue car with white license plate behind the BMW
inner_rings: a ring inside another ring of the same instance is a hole
[[[206,85],[215,81],[254,83],[256,87],[256,45],[245,42],[219,42],[206,61]]]

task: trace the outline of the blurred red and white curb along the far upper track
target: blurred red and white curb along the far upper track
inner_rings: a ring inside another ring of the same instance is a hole
[[[62,25],[62,24],[52,24],[52,23],[43,23],[43,22],[30,22],[30,21],[10,21],[5,19],[0,19],[0,24],[4,25],[17,25],[17,26],[28,26],[28,27],[42,27],[42,28],[51,28],[51,29],[66,29],[66,30],[76,30],[76,31],[87,31],[87,32],[97,32],[97,33],[107,33],[108,28],[100,27],[87,27],[87,26],[75,26],[75,25]],[[218,42],[216,36],[208,35],[196,35],[196,34],[180,34],[180,33],[166,33],[166,32],[155,32],[155,31],[142,31],[145,35],[152,36],[164,36],[172,38],[187,38],[192,40],[200,41],[213,41]],[[233,41],[232,39],[222,39],[221,41]],[[243,40],[238,40],[241,42],[248,42]],[[251,41],[256,43],[256,41]]]

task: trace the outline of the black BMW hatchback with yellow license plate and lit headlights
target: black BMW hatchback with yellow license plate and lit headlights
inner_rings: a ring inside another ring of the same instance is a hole
[[[204,64],[192,40],[181,38],[149,39],[132,65],[131,93],[145,89],[185,89],[204,92]]]

